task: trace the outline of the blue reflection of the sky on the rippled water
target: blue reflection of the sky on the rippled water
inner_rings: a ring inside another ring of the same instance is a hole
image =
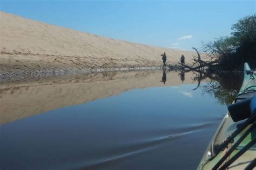
[[[129,90],[2,125],[3,166],[86,167],[138,151],[142,153],[129,157],[130,162],[118,160],[116,169],[131,165],[166,169],[174,166],[173,162],[177,167],[195,169],[226,107],[215,103],[211,95],[202,96],[200,88],[192,91],[194,86]],[[214,126],[191,131],[195,125],[212,122]],[[170,140],[169,136],[180,137]],[[197,160],[186,158],[184,164],[187,152]],[[168,161],[173,153],[175,161]]]

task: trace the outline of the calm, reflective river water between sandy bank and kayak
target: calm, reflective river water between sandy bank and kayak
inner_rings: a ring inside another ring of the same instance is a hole
[[[164,74],[2,83],[0,168],[196,169],[235,88],[205,77],[199,83],[190,72]]]

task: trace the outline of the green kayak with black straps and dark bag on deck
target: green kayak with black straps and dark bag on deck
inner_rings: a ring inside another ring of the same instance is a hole
[[[244,64],[244,81],[214,133],[198,170],[253,169],[256,165],[256,74]]]

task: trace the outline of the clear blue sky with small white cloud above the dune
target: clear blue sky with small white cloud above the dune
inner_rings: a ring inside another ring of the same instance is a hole
[[[256,1],[15,1],[0,10],[40,22],[146,45],[191,50],[229,36]]]

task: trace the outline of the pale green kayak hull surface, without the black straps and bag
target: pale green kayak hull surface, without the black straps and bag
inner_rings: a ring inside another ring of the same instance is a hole
[[[251,74],[250,74],[251,73]],[[248,63],[244,64],[244,81],[242,83],[242,86],[239,90],[238,96],[243,95],[245,93],[248,93],[248,91],[254,91],[256,90],[256,74],[251,71],[250,66]],[[254,95],[254,94],[253,94]],[[255,93],[256,95],[256,93]],[[239,122],[233,122],[232,118],[230,117],[230,114],[227,112],[227,114],[224,116],[223,120],[221,121],[218,129],[215,131],[210,144],[208,145],[203,158],[201,159],[199,166],[197,169],[212,169],[217,162],[221,159],[221,157],[225,154],[224,151],[220,151],[219,153],[215,153],[223,141],[230,136],[235,130],[237,130],[237,127],[244,123],[246,120],[239,121]],[[233,144],[242,136],[242,134],[245,133],[245,131],[250,128],[252,124],[249,124],[244,130],[242,130],[238,136],[234,138]],[[233,157],[236,153],[238,153],[244,146],[250,141],[256,137],[256,129],[252,130],[244,140],[239,144],[237,148],[231,153],[230,158]],[[230,147],[231,147],[230,146]],[[235,160],[228,169],[245,169],[250,162],[253,161],[253,159],[256,157],[256,144],[254,144],[251,148],[249,148],[244,154],[242,154],[237,160]]]

